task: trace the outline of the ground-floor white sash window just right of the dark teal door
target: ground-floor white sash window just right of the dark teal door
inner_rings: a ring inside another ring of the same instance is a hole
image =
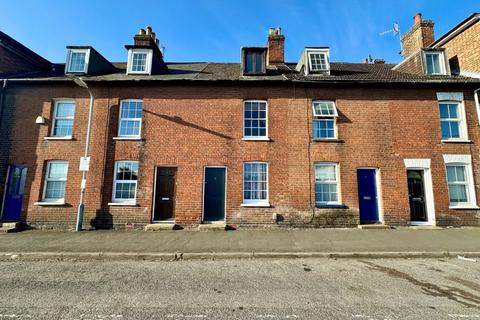
[[[243,204],[268,206],[268,164],[243,164]]]

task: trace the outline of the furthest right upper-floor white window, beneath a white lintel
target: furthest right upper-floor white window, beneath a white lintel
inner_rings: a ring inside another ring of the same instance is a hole
[[[466,140],[463,104],[455,101],[439,103],[442,140]]]

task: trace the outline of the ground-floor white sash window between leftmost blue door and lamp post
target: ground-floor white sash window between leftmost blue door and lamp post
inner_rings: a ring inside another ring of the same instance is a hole
[[[43,202],[65,202],[65,186],[67,184],[68,162],[53,160],[47,162],[45,170],[45,186]]]

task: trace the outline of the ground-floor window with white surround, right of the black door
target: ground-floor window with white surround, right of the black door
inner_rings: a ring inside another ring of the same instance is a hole
[[[450,207],[477,208],[470,155],[444,155]]]

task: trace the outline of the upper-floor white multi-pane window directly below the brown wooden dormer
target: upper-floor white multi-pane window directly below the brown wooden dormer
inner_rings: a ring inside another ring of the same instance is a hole
[[[244,139],[268,139],[268,114],[266,101],[244,101],[243,137]]]

